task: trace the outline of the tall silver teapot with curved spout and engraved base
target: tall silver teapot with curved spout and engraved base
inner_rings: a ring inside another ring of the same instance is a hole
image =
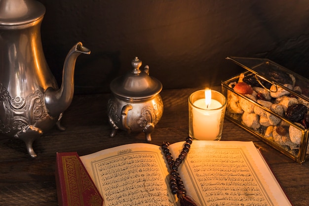
[[[45,7],[35,0],[0,0],[0,133],[26,143],[33,158],[33,141],[55,124],[74,94],[74,70],[79,54],[90,54],[81,42],[69,51],[61,87],[46,63],[40,25]]]

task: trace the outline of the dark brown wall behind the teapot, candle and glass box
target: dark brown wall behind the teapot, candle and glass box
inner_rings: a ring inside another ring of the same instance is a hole
[[[205,87],[243,71],[227,56],[269,58],[309,78],[307,0],[39,0],[41,38],[61,82],[81,41],[75,93],[109,92],[138,56],[163,88]]]

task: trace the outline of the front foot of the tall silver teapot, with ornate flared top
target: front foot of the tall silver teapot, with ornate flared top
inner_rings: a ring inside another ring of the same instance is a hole
[[[17,132],[14,135],[14,137],[23,140],[26,144],[28,154],[32,158],[36,158],[37,154],[33,150],[32,145],[33,145],[33,142],[42,134],[43,134],[43,131],[40,130],[39,128],[32,126],[32,125],[28,125],[23,130]]]

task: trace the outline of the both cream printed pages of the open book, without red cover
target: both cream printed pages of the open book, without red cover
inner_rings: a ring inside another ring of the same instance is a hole
[[[169,146],[176,159],[185,142]],[[177,206],[157,145],[135,143],[81,156],[104,206]],[[291,206],[252,142],[193,140],[178,168],[200,206]]]

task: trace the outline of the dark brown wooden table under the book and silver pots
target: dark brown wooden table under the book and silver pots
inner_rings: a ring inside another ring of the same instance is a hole
[[[220,87],[216,88],[220,90]],[[161,91],[164,112],[152,133],[152,143],[183,141],[188,135],[188,96],[196,89]],[[143,133],[118,131],[114,138],[106,108],[109,94],[77,95],[65,112],[62,124],[35,141],[38,157],[32,159],[18,139],[0,137],[0,205],[57,206],[55,184],[56,152],[82,156],[106,148],[146,142]],[[300,165],[240,127],[225,121],[222,140],[253,141],[261,149],[275,177],[294,206],[309,206],[309,164]]]

